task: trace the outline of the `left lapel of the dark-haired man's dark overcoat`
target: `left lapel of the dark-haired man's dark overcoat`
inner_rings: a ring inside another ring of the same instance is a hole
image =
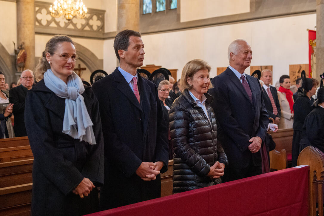
[[[138,100],[136,96],[134,95],[134,92],[132,91],[131,87],[126,82],[125,78],[121,74],[121,72],[116,68],[114,72],[112,72],[112,75],[114,76],[115,82],[117,82],[117,89],[123,93],[127,99],[139,110],[142,110],[141,105],[138,103]]]

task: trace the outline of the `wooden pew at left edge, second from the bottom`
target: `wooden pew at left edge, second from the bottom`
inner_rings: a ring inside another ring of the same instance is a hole
[[[0,163],[0,188],[32,183],[34,159]]]

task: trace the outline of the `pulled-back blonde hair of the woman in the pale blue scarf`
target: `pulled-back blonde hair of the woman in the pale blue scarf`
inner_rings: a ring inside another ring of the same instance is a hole
[[[45,51],[43,51],[42,56],[39,59],[39,62],[35,68],[34,74],[37,82],[43,78],[44,73],[47,71],[47,69],[51,68],[50,64],[46,60],[46,53],[48,52],[51,55],[53,55],[57,48],[57,45],[62,42],[70,42],[74,45],[73,40],[66,35],[56,35],[52,37],[49,41],[47,41]]]

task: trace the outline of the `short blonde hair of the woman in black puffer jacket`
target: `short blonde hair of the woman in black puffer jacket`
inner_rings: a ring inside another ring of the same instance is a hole
[[[190,86],[187,82],[187,77],[190,79],[193,78],[193,75],[197,73],[200,70],[207,69],[208,73],[210,72],[211,66],[207,64],[207,62],[201,60],[201,59],[194,59],[186,63],[186,65],[182,69],[182,74],[180,78],[180,88],[181,89],[191,89],[192,86]],[[208,89],[213,88],[212,83],[209,84]]]

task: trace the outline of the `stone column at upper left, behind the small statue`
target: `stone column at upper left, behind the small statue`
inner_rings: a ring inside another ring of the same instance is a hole
[[[25,43],[27,60],[25,69],[35,68],[35,2],[34,0],[17,0],[17,46]],[[18,68],[17,68],[18,69]]]

